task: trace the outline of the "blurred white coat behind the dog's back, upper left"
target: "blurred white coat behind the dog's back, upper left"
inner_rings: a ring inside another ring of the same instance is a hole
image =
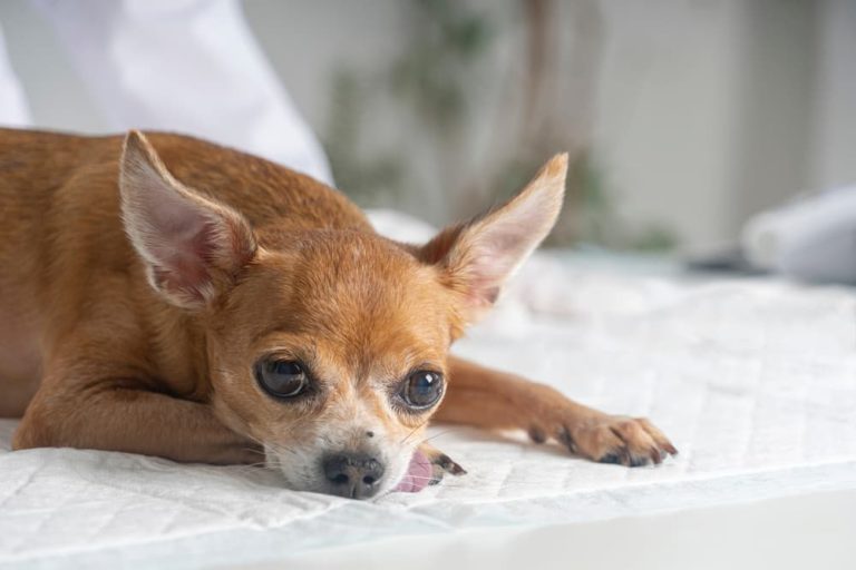
[[[111,130],[195,135],[332,185],[318,139],[280,85],[237,0],[32,2],[54,24]],[[1,29],[0,125],[31,125]]]

